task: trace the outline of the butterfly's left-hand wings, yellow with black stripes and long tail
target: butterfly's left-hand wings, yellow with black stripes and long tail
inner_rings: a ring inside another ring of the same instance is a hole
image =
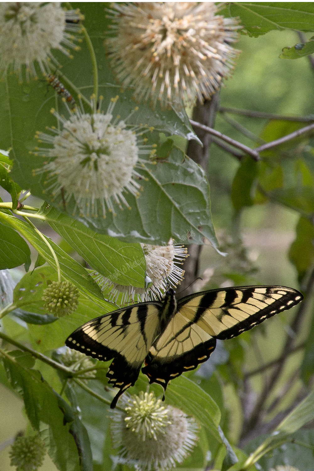
[[[138,378],[144,358],[160,332],[161,307],[161,302],[149,301],[118,309],[86,322],[65,341],[71,349],[97,360],[114,358],[106,374],[108,382],[119,388],[111,408]]]

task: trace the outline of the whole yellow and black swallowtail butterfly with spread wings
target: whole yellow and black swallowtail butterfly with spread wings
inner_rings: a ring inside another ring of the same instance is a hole
[[[106,374],[119,388],[110,407],[134,386],[140,374],[165,390],[168,383],[206,361],[216,340],[232,339],[268,317],[290,309],[303,295],[284,286],[239,286],[189,294],[176,300],[140,302],[96,317],[65,341],[71,349],[102,361],[113,358]]]

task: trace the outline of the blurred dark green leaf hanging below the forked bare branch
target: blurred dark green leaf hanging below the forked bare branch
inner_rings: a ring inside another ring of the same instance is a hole
[[[236,211],[241,210],[244,206],[254,204],[251,190],[257,175],[257,162],[251,157],[243,159],[235,174],[231,189],[232,204]]]

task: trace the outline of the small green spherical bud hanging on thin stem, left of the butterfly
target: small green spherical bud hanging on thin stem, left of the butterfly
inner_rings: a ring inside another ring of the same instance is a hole
[[[44,308],[55,317],[71,314],[78,307],[79,290],[69,281],[53,281],[42,296]]]

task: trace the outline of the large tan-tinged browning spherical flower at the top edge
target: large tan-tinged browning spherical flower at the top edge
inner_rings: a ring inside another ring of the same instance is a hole
[[[230,46],[240,28],[235,18],[216,16],[213,2],[114,3],[115,37],[106,41],[113,71],[134,98],[163,108],[181,97],[203,102],[230,75],[240,52]]]

